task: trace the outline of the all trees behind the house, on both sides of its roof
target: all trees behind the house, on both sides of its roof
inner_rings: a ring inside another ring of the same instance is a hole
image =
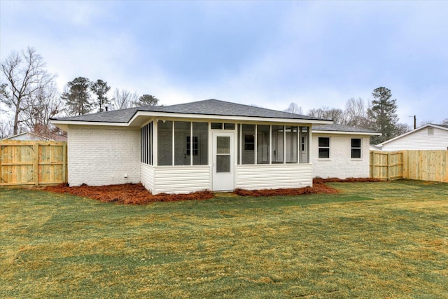
[[[381,137],[372,137],[372,144],[412,129],[398,123],[397,100],[391,99],[391,90],[376,88],[372,97],[371,102],[361,98],[348,99],[344,110],[324,106],[303,113],[300,106],[291,103],[285,111],[381,132]],[[64,134],[50,124],[50,118],[54,116],[80,116],[108,109],[158,104],[159,99],[153,95],[139,96],[136,92],[120,88],[111,92],[106,81],[90,81],[82,76],[68,82],[64,92],[60,93],[55,74],[48,73],[43,57],[34,48],[13,51],[0,65],[0,138],[25,131],[52,138],[55,134]],[[448,118],[443,123],[448,124]]]

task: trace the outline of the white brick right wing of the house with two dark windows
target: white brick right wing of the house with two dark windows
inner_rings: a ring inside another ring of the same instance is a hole
[[[370,176],[370,136],[379,132],[346,125],[314,125],[311,142],[313,177]]]

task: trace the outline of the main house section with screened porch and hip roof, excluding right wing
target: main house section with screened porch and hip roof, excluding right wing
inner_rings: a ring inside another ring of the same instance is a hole
[[[153,194],[311,186],[311,127],[332,123],[216,99],[51,121],[68,133],[70,186]]]

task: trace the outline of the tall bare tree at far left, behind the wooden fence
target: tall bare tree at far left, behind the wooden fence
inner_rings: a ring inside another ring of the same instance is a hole
[[[0,101],[13,109],[13,134],[18,134],[20,123],[26,121],[23,111],[31,109],[31,98],[52,83],[54,76],[45,69],[43,57],[34,48],[11,53],[0,66],[6,85],[0,93]]]

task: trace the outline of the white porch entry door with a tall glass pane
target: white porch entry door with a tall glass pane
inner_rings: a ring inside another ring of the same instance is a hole
[[[213,132],[213,186],[214,191],[235,188],[235,134]]]

